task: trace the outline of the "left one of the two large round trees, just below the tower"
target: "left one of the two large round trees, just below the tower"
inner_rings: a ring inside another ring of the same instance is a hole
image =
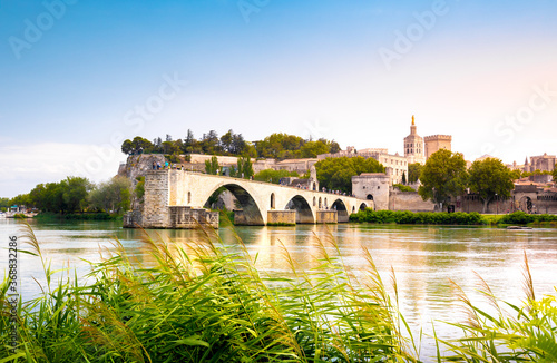
[[[442,209],[451,197],[465,192],[467,176],[462,154],[440,149],[433,153],[423,166],[420,175],[422,185],[418,193],[423,200],[430,199]]]

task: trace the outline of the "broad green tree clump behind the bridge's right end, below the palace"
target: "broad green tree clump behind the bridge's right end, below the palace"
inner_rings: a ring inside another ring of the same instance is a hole
[[[326,158],[315,164],[320,186],[331,190],[352,193],[352,176],[362,173],[383,173],[384,167],[375,159],[361,156]]]

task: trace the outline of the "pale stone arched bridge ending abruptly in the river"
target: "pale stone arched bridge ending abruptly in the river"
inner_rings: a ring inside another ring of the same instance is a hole
[[[373,200],[338,194],[187,170],[149,170],[143,208],[128,213],[124,226],[193,228],[206,220],[218,227],[218,214],[203,206],[221,187],[242,205],[242,210],[235,212],[235,224],[240,225],[343,223],[351,213],[373,208]]]

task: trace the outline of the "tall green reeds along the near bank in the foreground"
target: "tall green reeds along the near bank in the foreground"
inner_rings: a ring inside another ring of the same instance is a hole
[[[0,345],[2,362],[431,362],[420,356],[398,306],[391,268],[387,293],[370,252],[352,272],[332,235],[315,236],[316,267],[303,269],[283,246],[287,276],[266,276],[236,236],[233,253],[213,229],[202,241],[143,243],[150,266],[115,251],[78,279],[52,271],[31,227],[22,237],[43,266],[46,285],[18,306],[18,346]],[[74,277],[72,277],[74,276]],[[479,291],[495,314],[473,306],[456,284],[468,322],[462,336],[437,342],[437,362],[557,361],[557,300],[534,295],[525,253],[524,306]],[[0,284],[0,341],[10,332],[9,282]],[[434,334],[434,333],[433,333]],[[421,339],[421,336],[419,337]],[[442,353],[444,351],[444,353]]]

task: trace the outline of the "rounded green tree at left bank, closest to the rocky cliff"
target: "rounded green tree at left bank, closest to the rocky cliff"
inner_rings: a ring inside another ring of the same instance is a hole
[[[131,182],[123,176],[116,176],[109,182],[100,183],[88,195],[91,208],[123,214],[129,210],[131,204]]]

